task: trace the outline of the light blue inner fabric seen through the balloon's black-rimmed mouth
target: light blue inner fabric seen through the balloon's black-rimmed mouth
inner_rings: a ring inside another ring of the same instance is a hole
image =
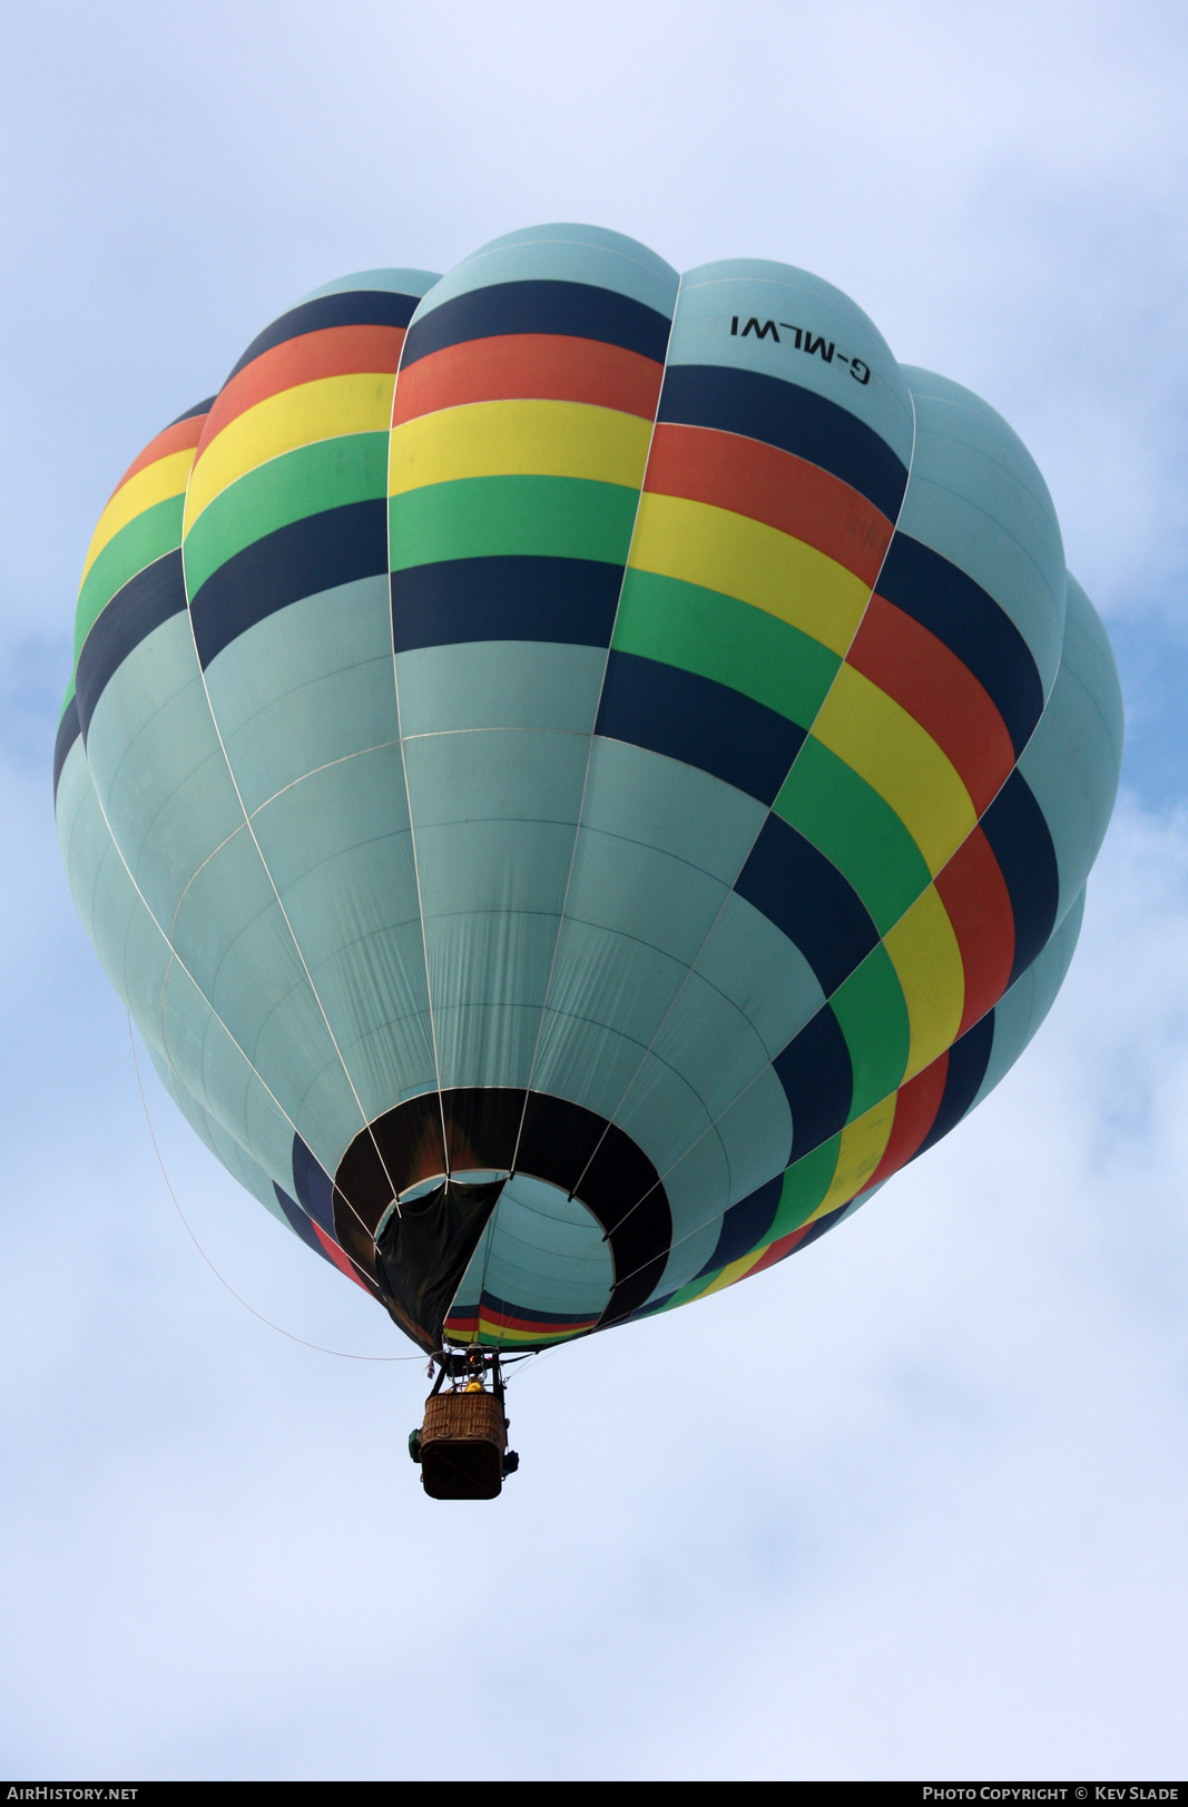
[[[613,1283],[611,1249],[593,1212],[559,1187],[517,1173],[490,1225],[486,1292],[524,1312],[599,1317]]]

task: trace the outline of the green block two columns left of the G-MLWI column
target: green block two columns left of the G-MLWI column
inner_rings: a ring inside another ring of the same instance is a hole
[[[342,434],[273,457],[222,490],[197,517],[186,533],[186,587],[197,596],[219,566],[277,528],[385,493],[385,432]]]

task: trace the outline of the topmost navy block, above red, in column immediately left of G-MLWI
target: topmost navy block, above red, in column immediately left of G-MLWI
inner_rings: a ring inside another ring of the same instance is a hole
[[[447,345],[504,332],[561,332],[622,345],[664,363],[671,316],[589,282],[494,282],[432,307],[409,329],[401,370]]]

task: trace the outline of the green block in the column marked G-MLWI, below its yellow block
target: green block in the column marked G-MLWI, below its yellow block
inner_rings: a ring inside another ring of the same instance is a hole
[[[801,728],[812,725],[841,665],[765,609],[655,571],[627,571],[611,645],[741,690]]]

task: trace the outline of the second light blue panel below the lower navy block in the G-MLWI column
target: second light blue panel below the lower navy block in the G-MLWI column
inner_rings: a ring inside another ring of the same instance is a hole
[[[702,950],[725,896],[720,878],[671,853],[582,828],[566,918],[613,929],[687,967]]]

